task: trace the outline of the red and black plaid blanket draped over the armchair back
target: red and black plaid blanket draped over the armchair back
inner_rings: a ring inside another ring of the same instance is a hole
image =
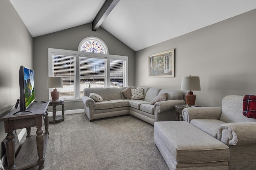
[[[256,96],[249,94],[244,96],[243,115],[256,119]]]

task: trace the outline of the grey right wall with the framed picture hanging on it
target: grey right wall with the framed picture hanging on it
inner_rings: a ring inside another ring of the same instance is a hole
[[[148,55],[168,49],[175,49],[175,78],[148,78]],[[255,95],[256,10],[136,51],[135,72],[135,86],[176,90],[182,76],[200,76],[194,94],[204,106],[221,106],[226,95]]]

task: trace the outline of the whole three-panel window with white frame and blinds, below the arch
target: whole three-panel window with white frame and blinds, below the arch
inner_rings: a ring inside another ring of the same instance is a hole
[[[81,100],[84,88],[127,86],[127,56],[49,48],[48,59],[48,76],[62,77],[58,91],[66,101]]]

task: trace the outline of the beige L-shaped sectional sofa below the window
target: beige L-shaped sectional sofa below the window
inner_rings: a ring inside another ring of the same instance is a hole
[[[176,120],[175,104],[184,104],[183,93],[179,90],[168,90],[149,87],[131,87],[131,89],[143,88],[144,98],[139,100],[126,99],[123,90],[127,87],[111,88],[85,88],[82,102],[84,112],[90,121],[118,115],[133,115],[150,124],[155,121]],[[95,93],[103,98],[103,102],[95,102],[90,98],[90,93]],[[158,95],[166,93],[166,101],[150,102]]]

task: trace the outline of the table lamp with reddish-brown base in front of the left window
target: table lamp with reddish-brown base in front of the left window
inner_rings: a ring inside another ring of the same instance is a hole
[[[52,100],[58,100],[60,92],[56,88],[63,88],[62,77],[48,77],[47,88],[54,88],[51,92]]]

